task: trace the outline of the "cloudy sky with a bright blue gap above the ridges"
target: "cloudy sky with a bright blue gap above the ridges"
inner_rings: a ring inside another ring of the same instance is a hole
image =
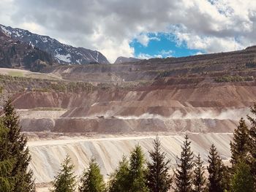
[[[99,50],[110,62],[256,44],[256,0],[1,0],[0,23]]]

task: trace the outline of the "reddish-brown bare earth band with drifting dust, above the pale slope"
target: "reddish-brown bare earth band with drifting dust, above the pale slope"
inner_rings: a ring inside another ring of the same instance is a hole
[[[26,131],[232,132],[255,96],[255,82],[192,85],[166,82],[161,86],[121,91],[17,93],[14,103],[18,109],[67,109],[59,117],[21,120]]]

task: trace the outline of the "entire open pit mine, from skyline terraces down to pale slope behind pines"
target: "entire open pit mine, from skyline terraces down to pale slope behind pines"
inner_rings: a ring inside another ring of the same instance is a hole
[[[148,158],[157,134],[173,167],[184,134],[205,163],[213,143],[228,162],[233,130],[256,101],[256,47],[122,64],[53,65],[39,73],[0,71],[1,104],[7,96],[14,99],[42,191],[67,154],[78,175],[93,156],[108,180],[136,144]]]

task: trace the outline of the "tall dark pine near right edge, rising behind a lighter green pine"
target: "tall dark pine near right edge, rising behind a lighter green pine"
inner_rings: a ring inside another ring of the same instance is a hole
[[[247,155],[249,151],[249,128],[245,120],[241,118],[239,126],[234,131],[233,142],[230,142],[231,160],[234,167],[241,157]]]

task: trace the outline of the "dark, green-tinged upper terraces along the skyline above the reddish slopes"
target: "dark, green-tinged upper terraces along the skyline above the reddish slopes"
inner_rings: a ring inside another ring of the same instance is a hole
[[[42,72],[60,74],[67,80],[91,82],[151,81],[162,77],[219,77],[224,74],[255,75],[256,46],[229,53],[183,58],[151,58],[111,65],[53,66]]]

